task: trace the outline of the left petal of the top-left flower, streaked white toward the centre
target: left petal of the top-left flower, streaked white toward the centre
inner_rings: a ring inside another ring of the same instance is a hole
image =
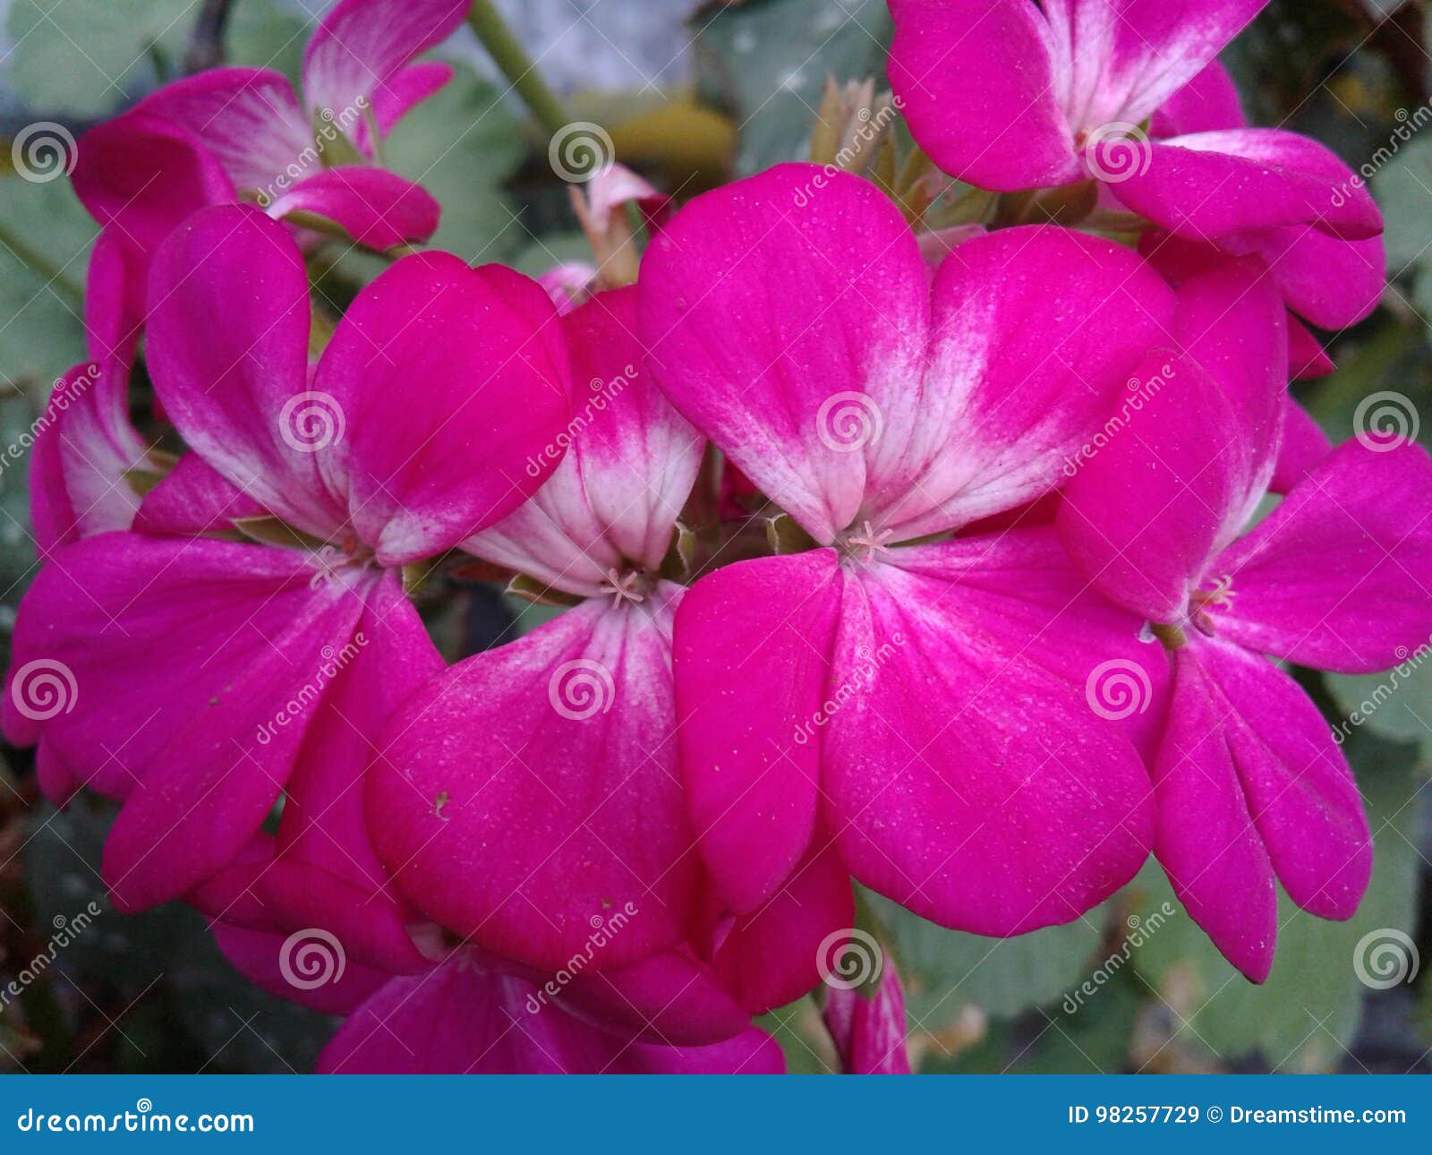
[[[271,69],[211,69],[165,85],[137,112],[193,133],[241,191],[272,198],[295,169],[319,165],[294,86]]]

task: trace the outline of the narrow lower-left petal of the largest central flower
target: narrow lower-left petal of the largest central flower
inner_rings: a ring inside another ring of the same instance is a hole
[[[676,615],[686,802],[739,913],[780,888],[815,828],[836,575],[831,550],[739,562],[697,582]]]

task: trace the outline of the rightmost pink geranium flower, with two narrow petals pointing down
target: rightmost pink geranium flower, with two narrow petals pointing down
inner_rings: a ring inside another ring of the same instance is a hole
[[[1197,365],[1180,361],[1081,463],[1058,527],[1080,572],[1170,651],[1154,854],[1190,916],[1262,982],[1277,884],[1313,914],[1348,919],[1372,868],[1339,745],[1264,655],[1366,674],[1426,641],[1432,461],[1413,444],[1350,441],[1243,533],[1285,413],[1282,307],[1257,277],[1227,267],[1180,288],[1184,317],[1216,328],[1217,344]]]

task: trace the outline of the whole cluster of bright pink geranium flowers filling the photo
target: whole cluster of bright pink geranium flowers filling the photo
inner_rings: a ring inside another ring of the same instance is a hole
[[[115,904],[385,1072],[779,1070],[752,1017],[869,937],[852,878],[1014,936],[1153,854],[1254,982],[1279,887],[1349,917],[1368,821],[1280,662],[1432,633],[1432,461],[1289,396],[1382,222],[1246,126],[1263,3],[891,0],[879,130],[680,206],[600,172],[543,282],[408,252],[438,206],[378,163],[465,3],[344,0],[302,100],[223,69],[93,129],[4,724],[119,801]],[[394,258],[341,317],[335,234]],[[420,606],[493,578],[561,612],[450,662]],[[889,950],[826,999],[852,1070],[909,1069]]]

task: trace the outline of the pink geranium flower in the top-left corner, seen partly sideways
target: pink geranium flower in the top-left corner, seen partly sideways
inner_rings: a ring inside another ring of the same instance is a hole
[[[344,0],[304,53],[304,99],[272,69],[213,69],[166,85],[79,145],[74,191],[130,249],[135,295],[147,257],[206,205],[256,201],[271,216],[329,221],[361,245],[425,241],[440,208],[378,163],[384,136],[453,76],[412,57],[463,23],[468,0]]]

